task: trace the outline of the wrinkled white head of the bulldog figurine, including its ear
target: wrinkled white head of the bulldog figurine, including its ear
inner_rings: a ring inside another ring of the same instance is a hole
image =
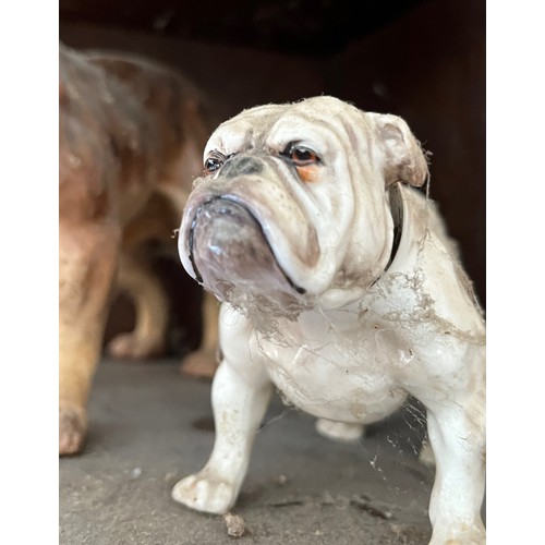
[[[399,118],[332,97],[243,111],[206,146],[183,266],[218,299],[281,315],[361,293],[391,250],[385,187],[427,172],[411,138]]]

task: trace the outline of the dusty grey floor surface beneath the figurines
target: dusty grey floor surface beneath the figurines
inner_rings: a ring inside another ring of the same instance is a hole
[[[417,460],[417,405],[347,445],[276,397],[232,510],[244,535],[174,502],[173,484],[211,449],[209,392],[209,382],[181,376],[172,360],[100,363],[86,449],[59,462],[60,545],[427,543],[433,471]]]

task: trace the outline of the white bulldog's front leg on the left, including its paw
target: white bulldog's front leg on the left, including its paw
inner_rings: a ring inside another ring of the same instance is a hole
[[[247,363],[250,367],[240,362],[234,366],[225,359],[214,376],[214,450],[197,474],[182,479],[172,489],[172,498],[192,509],[225,513],[239,495],[272,391],[265,372]]]

